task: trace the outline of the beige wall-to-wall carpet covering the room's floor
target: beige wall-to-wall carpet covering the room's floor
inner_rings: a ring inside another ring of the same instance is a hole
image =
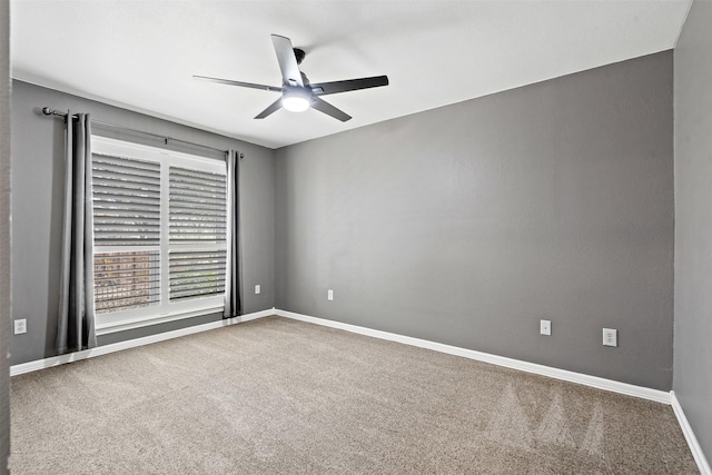
[[[12,379],[19,474],[690,474],[671,407],[278,317]]]

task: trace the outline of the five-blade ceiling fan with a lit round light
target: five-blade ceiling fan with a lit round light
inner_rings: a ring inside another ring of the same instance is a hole
[[[294,112],[301,112],[312,107],[313,109],[345,122],[350,119],[352,116],[332,106],[322,99],[322,96],[388,86],[387,76],[374,76],[370,78],[347,79],[344,81],[319,82],[313,85],[309,82],[306,75],[299,70],[299,65],[306,56],[304,50],[294,48],[289,38],[280,37],[279,34],[273,34],[271,42],[275,46],[277,61],[279,62],[279,69],[281,70],[281,87],[279,88],[275,86],[234,81],[231,79],[209,78],[207,76],[194,76],[194,78],[221,85],[281,92],[281,97],[267,107],[267,109],[259,112],[255,119],[264,119],[280,107]]]

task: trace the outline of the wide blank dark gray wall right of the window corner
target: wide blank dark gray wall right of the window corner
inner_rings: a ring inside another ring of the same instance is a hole
[[[277,150],[277,308],[670,389],[672,61]]]

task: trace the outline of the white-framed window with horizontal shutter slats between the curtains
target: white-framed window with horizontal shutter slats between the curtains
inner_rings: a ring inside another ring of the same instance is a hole
[[[97,331],[224,308],[224,161],[92,137]]]

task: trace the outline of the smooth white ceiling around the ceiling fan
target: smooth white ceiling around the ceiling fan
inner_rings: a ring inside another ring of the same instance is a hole
[[[13,0],[12,76],[277,148],[674,47],[691,0]],[[270,33],[312,82],[388,75],[325,97],[354,118],[258,112],[280,85]],[[38,107],[44,105],[37,105]]]

